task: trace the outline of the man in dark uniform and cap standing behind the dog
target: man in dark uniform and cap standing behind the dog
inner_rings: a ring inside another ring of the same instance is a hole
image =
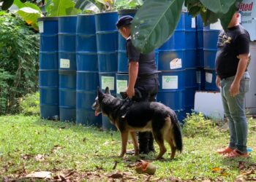
[[[154,52],[143,54],[132,45],[130,27],[132,20],[132,16],[126,15],[120,17],[116,23],[119,33],[124,39],[127,39],[126,48],[129,60],[127,95],[132,98],[135,95],[135,88],[137,88],[142,98],[135,101],[156,101],[159,82]],[[140,154],[148,154],[149,151],[154,151],[154,139],[151,132],[139,132],[138,141]]]

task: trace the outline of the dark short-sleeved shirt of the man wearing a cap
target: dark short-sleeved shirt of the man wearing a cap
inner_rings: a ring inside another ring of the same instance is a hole
[[[132,45],[131,37],[127,39],[127,58],[129,62],[139,63],[138,76],[157,74],[157,66],[154,60],[154,51],[142,54]]]

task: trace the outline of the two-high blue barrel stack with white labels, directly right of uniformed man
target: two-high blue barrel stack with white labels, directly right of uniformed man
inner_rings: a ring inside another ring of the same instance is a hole
[[[185,15],[182,13],[173,36],[159,47],[158,56],[160,73],[157,101],[175,110],[179,120],[184,117],[185,112],[185,47]]]

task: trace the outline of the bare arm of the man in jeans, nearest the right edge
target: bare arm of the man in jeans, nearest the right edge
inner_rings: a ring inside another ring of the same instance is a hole
[[[233,83],[230,86],[230,95],[235,97],[239,93],[240,81],[246,70],[246,66],[249,60],[249,54],[238,55],[239,63],[236,71],[236,76]]]

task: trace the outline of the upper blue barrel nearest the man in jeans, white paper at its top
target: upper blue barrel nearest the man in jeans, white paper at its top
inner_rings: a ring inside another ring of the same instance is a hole
[[[218,29],[219,28],[219,29]],[[215,68],[215,58],[217,53],[217,40],[221,25],[215,23],[203,28],[203,50],[204,67],[208,69]]]

